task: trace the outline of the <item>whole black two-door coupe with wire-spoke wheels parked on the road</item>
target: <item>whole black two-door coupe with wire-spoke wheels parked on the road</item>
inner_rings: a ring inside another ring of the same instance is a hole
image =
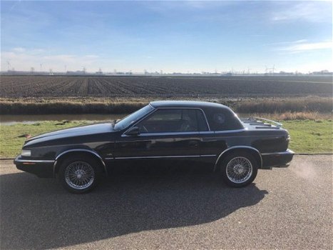
[[[227,106],[203,101],[153,101],[120,121],[53,131],[28,139],[14,164],[56,177],[75,193],[90,191],[108,168],[132,164],[204,163],[225,183],[250,184],[257,169],[287,166],[293,152],[281,124],[239,119]]]

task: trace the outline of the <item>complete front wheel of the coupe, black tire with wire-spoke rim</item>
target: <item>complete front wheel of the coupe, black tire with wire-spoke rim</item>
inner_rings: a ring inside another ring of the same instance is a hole
[[[68,156],[61,163],[58,178],[71,193],[83,194],[93,190],[101,177],[101,167],[89,156]]]

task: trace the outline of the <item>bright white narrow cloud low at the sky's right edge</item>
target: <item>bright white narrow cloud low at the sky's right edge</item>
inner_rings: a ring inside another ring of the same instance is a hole
[[[278,48],[279,51],[303,52],[318,51],[323,49],[332,49],[332,41],[319,41],[314,43],[306,42],[307,40],[298,40],[290,42],[289,45]]]

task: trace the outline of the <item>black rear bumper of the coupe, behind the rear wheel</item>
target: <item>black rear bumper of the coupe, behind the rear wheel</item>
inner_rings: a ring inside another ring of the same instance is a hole
[[[289,166],[294,152],[290,149],[283,152],[262,153],[262,169],[270,169],[272,167],[287,167]]]

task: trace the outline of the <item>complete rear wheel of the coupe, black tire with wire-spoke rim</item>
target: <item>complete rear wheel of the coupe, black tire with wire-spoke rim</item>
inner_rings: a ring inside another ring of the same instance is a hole
[[[222,160],[220,171],[228,186],[247,186],[257,176],[258,163],[255,157],[247,152],[232,153]]]

